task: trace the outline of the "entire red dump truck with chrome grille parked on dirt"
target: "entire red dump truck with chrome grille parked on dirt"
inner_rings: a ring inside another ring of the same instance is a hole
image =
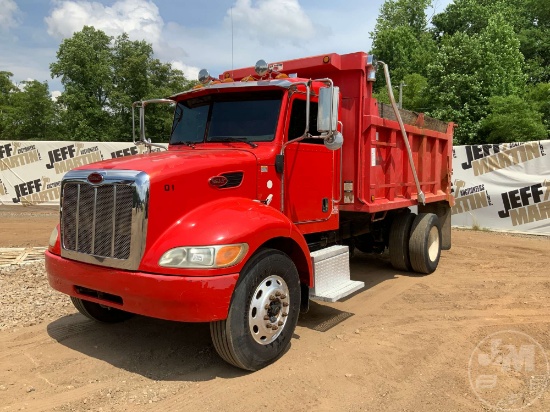
[[[372,95],[380,66],[391,106]],[[364,286],[350,279],[354,249],[436,269],[451,246],[453,124],[399,110],[385,64],[327,54],[199,80],[134,103],[147,146],[146,106],[175,105],[166,151],[63,178],[46,269],[82,314],[210,322],[220,356],[257,370],[310,299]]]

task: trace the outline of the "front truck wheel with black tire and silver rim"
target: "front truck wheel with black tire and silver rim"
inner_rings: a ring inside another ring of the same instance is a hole
[[[300,295],[294,262],[278,250],[261,249],[241,272],[227,319],[210,323],[218,354],[250,371],[275,362],[290,345]]]

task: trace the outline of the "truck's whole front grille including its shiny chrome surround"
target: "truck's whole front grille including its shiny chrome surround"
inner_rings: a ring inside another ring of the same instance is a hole
[[[90,174],[100,184],[90,184]],[[138,170],[71,170],[61,183],[61,256],[137,270],[145,252],[149,175]]]

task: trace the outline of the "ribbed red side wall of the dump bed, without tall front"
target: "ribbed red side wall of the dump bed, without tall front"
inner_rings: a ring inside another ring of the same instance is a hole
[[[391,106],[380,104],[378,109],[379,115],[362,116],[361,132],[354,142],[355,170],[344,161],[344,182],[353,173],[357,183],[353,203],[344,196],[341,210],[375,213],[416,204],[417,188],[399,123]],[[426,203],[452,201],[453,125],[400,112]],[[344,159],[350,156],[346,149]]]

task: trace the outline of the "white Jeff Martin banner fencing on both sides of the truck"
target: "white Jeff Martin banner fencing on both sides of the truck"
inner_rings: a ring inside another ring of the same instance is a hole
[[[67,171],[145,151],[133,143],[0,141],[0,204],[58,205]],[[455,146],[453,226],[550,234],[549,153],[550,140]]]

